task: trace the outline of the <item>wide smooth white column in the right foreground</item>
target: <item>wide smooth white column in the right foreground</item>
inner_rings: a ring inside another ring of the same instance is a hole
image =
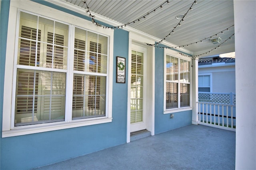
[[[236,169],[256,169],[256,1],[234,0]]]

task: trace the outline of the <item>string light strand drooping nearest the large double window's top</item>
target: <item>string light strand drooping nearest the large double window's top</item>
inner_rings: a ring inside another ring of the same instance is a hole
[[[85,0],[83,1],[83,3],[86,4],[86,8],[87,8],[86,13],[89,13],[89,16],[92,17],[93,23],[97,23],[97,22],[94,20],[95,16],[92,16],[92,14],[91,14],[91,12],[90,12],[90,8],[88,7],[88,5],[87,5],[87,3],[86,3]],[[129,24],[131,24],[131,23],[135,24],[135,22],[137,22],[137,21],[140,22],[140,20],[141,20],[142,18],[146,19],[146,16],[148,16],[148,15],[151,14],[152,12],[155,13],[158,8],[163,9],[163,5],[166,4],[166,3],[169,5],[169,4],[170,4],[169,0],[166,0],[164,3],[162,3],[160,6],[154,8],[154,10],[151,10],[151,11],[148,12],[146,15],[144,15],[144,16],[142,16],[142,17],[140,17],[140,18],[138,18],[138,19],[136,19],[136,20],[134,20],[134,21],[132,21],[132,22],[128,22],[127,24],[123,24],[123,25],[116,26],[116,27],[121,27],[121,28],[122,28],[122,26],[126,27],[127,25],[129,25]],[[98,24],[98,23],[97,23],[96,25],[97,25],[97,26],[100,26],[100,27],[104,27],[104,28],[112,28],[112,29],[113,29],[113,27],[102,26],[101,24]]]

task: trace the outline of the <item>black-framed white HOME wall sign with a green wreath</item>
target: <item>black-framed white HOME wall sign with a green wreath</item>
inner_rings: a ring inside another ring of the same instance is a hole
[[[125,58],[116,56],[116,83],[125,83]]]

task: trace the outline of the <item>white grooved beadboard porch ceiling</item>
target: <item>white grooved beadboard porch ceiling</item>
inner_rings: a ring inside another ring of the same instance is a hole
[[[65,1],[86,11],[84,0]],[[121,24],[137,20],[164,2],[166,0],[86,0],[91,12]],[[234,34],[233,0],[197,0],[197,4],[194,3],[194,0],[169,0],[169,2],[170,4],[165,3],[162,6],[163,9],[158,8],[155,13],[152,12],[146,16],[146,19],[141,19],[140,22],[128,26],[158,38],[158,40],[167,36],[164,41],[181,46],[190,51],[192,55],[200,55],[220,45],[220,43],[212,44],[208,37],[213,36],[212,38],[214,38],[215,34],[225,30],[223,34],[218,34],[222,38],[222,43]],[[187,13],[184,22],[177,20],[176,16],[185,14],[192,4],[193,10]],[[97,15],[95,20],[97,20]],[[168,36],[179,22],[181,26],[176,27],[174,33]],[[118,26],[118,24],[114,26]],[[233,27],[229,28],[230,26]],[[229,30],[226,30],[227,28]],[[205,38],[208,39],[204,40]],[[200,40],[204,41],[195,43]],[[195,44],[187,45],[190,43]],[[183,47],[183,45],[185,46]],[[234,36],[222,43],[216,50],[214,49],[211,53],[201,57],[233,51],[235,51]]]

